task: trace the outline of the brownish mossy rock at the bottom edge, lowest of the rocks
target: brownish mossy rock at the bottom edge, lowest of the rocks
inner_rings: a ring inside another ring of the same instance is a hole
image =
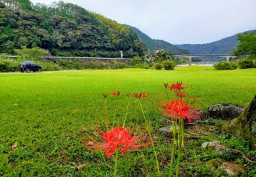
[[[244,172],[243,166],[235,164],[230,161],[225,161],[223,159],[213,159],[206,161],[206,166],[210,168],[210,171],[217,173],[221,170],[228,174],[228,176],[239,176],[240,173]]]

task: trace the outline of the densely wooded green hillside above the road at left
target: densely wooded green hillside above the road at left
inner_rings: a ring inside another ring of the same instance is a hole
[[[147,47],[124,25],[80,6],[50,6],[29,0],[0,0],[0,54],[21,46],[41,47],[54,56],[143,56]]]

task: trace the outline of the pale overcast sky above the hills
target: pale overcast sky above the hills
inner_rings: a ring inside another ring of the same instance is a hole
[[[49,5],[54,0],[31,0]],[[172,44],[208,43],[256,29],[256,0],[65,0]]]

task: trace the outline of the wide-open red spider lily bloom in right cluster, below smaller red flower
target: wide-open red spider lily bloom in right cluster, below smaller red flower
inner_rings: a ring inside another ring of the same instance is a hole
[[[171,118],[188,119],[191,122],[192,119],[198,119],[201,116],[201,112],[196,109],[191,109],[191,104],[188,105],[185,101],[171,101],[165,105],[162,105],[167,110],[164,110],[164,114],[169,115]]]

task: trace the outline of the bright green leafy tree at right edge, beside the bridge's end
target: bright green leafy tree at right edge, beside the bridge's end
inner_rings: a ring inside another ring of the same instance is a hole
[[[244,33],[238,35],[238,46],[233,50],[233,55],[249,55],[250,57],[256,56],[256,32]]]

